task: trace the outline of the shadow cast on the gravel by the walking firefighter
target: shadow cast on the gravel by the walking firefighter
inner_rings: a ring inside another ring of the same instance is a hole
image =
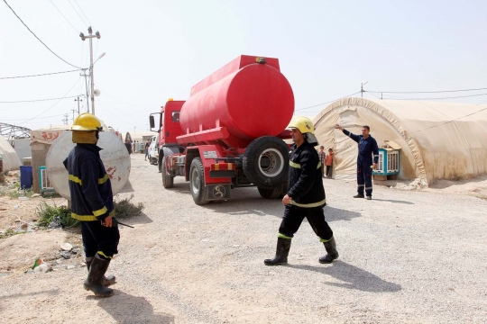
[[[370,293],[395,293],[401,290],[400,284],[389,283],[377,275],[373,275],[359,267],[337,260],[330,266],[289,265],[300,270],[315,271],[323,275],[331,275],[345,283],[325,283],[335,287],[355,289]]]

